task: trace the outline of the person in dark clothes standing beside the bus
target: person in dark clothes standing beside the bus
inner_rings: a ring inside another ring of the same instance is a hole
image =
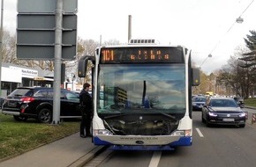
[[[89,88],[90,84],[84,84],[83,90],[79,94],[80,110],[82,113],[82,120],[80,122],[80,137],[82,138],[92,136],[92,134],[90,134],[90,126],[93,116],[93,100],[88,92]]]

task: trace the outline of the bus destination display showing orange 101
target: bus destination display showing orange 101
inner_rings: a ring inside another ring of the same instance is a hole
[[[101,63],[184,62],[181,47],[102,48]]]

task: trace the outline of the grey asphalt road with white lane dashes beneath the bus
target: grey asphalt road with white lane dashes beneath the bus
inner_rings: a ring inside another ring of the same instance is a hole
[[[246,109],[247,110],[247,109]],[[249,114],[255,110],[247,110]],[[112,151],[101,167],[256,166],[256,125],[206,127],[193,112],[193,143],[175,151]]]

